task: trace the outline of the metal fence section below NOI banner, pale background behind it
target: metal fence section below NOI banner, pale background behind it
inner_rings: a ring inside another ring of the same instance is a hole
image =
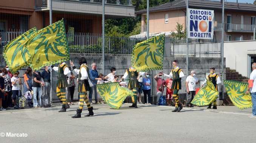
[[[184,57],[187,54],[187,41],[171,39],[171,57]],[[221,42],[213,40],[188,40],[189,57],[221,57]]]

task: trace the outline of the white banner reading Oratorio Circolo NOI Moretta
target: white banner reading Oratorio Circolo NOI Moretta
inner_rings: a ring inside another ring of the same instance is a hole
[[[188,38],[213,39],[214,11],[188,9]]]

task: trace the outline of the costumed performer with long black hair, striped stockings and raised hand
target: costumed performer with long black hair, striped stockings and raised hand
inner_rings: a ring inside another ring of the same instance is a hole
[[[89,68],[87,66],[87,61],[84,57],[79,58],[79,65],[80,69],[76,69],[74,64],[70,62],[71,66],[73,67],[73,71],[78,74],[77,82],[78,82],[78,92],[80,95],[80,104],[79,108],[76,111],[76,115],[72,116],[72,118],[80,118],[81,113],[83,110],[83,103],[85,102],[88,108],[89,113],[85,115],[86,117],[88,116],[93,116],[93,107],[91,107],[91,104],[89,102],[89,99],[87,98],[87,91],[90,90],[89,86]]]

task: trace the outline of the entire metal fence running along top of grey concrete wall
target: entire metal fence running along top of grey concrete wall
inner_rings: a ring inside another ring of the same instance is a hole
[[[11,32],[0,32],[2,41],[0,45],[5,46],[9,41],[19,36],[25,31],[11,30]],[[105,36],[106,54],[131,54],[133,46],[146,40],[145,36]],[[102,53],[102,35],[92,33],[72,33],[67,34],[68,48],[70,53]],[[190,57],[221,57],[221,42],[211,40],[193,40],[188,41],[188,54]],[[184,57],[187,54],[186,40],[171,39],[170,47],[171,57]]]

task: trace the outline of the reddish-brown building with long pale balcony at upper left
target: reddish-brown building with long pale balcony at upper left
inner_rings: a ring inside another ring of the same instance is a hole
[[[102,0],[51,0],[52,23],[64,19],[75,32],[102,33]],[[105,0],[106,18],[134,17],[131,0]],[[0,32],[49,25],[49,0],[1,0]]]

